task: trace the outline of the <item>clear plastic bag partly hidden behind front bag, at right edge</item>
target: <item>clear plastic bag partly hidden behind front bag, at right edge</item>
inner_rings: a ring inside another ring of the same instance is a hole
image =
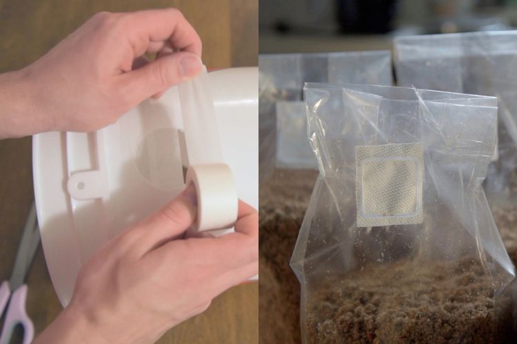
[[[485,182],[490,205],[517,201],[517,31],[399,37],[401,86],[498,97],[498,144]]]

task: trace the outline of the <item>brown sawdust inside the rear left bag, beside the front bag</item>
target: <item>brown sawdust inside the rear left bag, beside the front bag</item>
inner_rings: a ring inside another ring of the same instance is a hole
[[[317,171],[276,171],[260,191],[260,343],[301,343],[300,285],[291,259]]]

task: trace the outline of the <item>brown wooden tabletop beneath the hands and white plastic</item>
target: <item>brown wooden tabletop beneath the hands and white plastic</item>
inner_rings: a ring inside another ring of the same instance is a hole
[[[257,64],[257,0],[0,0],[0,72],[35,61],[95,12],[163,7],[181,9],[194,25],[207,67]],[[31,138],[0,140],[0,279],[10,277],[32,199]],[[27,283],[28,314],[39,333],[61,312],[41,247]],[[158,343],[258,343],[258,289],[248,283],[228,290]]]

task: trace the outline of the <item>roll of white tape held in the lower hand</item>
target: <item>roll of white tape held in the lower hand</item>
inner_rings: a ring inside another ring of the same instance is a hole
[[[185,184],[197,195],[196,230],[231,228],[237,220],[239,199],[234,176],[227,164],[196,164],[187,171]]]

